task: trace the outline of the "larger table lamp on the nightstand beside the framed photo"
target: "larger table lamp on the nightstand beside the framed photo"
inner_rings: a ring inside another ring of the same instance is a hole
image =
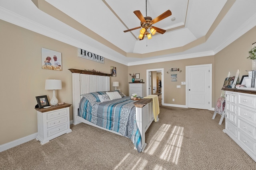
[[[55,80],[55,79],[45,80],[45,90],[53,90],[52,99],[50,101],[51,106],[58,105],[58,99],[55,96],[55,90],[60,90],[60,89],[62,89],[61,80]]]

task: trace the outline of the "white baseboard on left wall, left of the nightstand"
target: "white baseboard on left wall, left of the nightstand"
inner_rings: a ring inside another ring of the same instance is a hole
[[[21,145],[22,143],[26,143],[26,142],[31,141],[33,139],[36,139],[36,137],[37,137],[37,133],[34,133],[32,135],[22,137],[20,139],[15,140],[15,141],[11,141],[11,142],[5,143],[3,145],[0,145],[0,152],[2,152],[4,150],[7,150],[7,149],[10,149],[12,147],[16,147],[18,145]]]

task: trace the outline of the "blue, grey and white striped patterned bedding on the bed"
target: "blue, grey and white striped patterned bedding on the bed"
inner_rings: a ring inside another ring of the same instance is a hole
[[[138,152],[141,152],[142,141],[136,123],[135,106],[133,104],[135,101],[131,100],[130,97],[124,96],[121,92],[118,93],[121,96],[120,98],[107,100],[106,102],[100,102],[98,96],[104,95],[104,98],[106,98],[106,92],[83,94],[78,115],[95,125],[130,138]]]

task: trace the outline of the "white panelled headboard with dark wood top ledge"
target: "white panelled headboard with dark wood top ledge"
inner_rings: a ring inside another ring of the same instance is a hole
[[[75,121],[78,115],[79,103],[82,94],[109,91],[110,90],[110,75],[99,72],[90,72],[84,70],[77,70],[70,68],[72,72],[72,92],[73,92],[73,124],[79,122]]]

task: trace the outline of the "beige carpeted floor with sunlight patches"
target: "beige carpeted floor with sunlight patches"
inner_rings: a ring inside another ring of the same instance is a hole
[[[255,170],[213,111],[160,106],[138,153],[130,139],[80,123],[45,145],[35,139],[0,152],[1,170]]]

